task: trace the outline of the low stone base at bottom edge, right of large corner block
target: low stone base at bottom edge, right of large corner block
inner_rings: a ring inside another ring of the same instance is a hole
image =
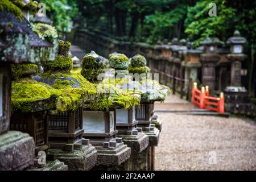
[[[34,167],[28,171],[68,171],[68,166],[59,160],[47,161],[43,167]]]

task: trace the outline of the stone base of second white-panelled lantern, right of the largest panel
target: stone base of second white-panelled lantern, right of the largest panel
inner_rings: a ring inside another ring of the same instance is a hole
[[[138,154],[148,146],[148,136],[139,132],[138,135],[117,135],[131,148],[131,155]]]

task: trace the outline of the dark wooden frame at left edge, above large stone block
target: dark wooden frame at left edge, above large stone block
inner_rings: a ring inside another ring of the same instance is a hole
[[[10,64],[0,63],[0,133],[9,129],[11,115]]]

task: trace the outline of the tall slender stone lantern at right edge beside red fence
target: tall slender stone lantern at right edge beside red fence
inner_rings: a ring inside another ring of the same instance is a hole
[[[226,42],[230,45],[230,53],[227,55],[231,64],[231,82],[224,90],[225,110],[232,113],[253,114],[254,105],[245,87],[241,83],[241,62],[247,58],[243,54],[246,39],[240,36],[239,31],[234,31],[234,36]]]

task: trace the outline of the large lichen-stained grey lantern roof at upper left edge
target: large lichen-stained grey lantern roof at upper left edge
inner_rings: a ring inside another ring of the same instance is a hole
[[[9,2],[9,1],[4,1]],[[14,10],[21,10],[14,4],[10,5]],[[30,28],[30,22],[22,14],[14,14],[0,11],[0,61],[11,63],[36,63],[55,57],[53,45],[42,40]],[[40,49],[44,48],[44,49]]]

